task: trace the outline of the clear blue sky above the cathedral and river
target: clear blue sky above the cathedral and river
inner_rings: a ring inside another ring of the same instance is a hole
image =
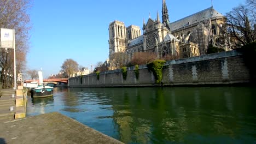
[[[213,0],[225,15],[245,0]],[[166,0],[171,22],[211,7],[211,0]],[[44,78],[57,74],[67,58],[90,68],[108,58],[108,25],[114,20],[142,29],[149,13],[161,19],[162,0],[35,0],[31,13],[31,44],[27,69],[40,70]]]

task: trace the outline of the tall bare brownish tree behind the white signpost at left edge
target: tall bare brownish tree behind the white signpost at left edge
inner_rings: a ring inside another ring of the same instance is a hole
[[[15,29],[16,72],[23,71],[26,66],[31,29],[28,13],[31,3],[30,0],[0,0],[0,27]],[[13,50],[0,50],[0,67],[2,68],[0,81],[5,88],[11,87],[11,83],[13,83],[13,55]],[[10,77],[12,77],[11,81],[8,80]]]

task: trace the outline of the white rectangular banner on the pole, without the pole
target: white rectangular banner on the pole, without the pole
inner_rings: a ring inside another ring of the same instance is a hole
[[[1,28],[1,47],[13,49],[13,29]]]

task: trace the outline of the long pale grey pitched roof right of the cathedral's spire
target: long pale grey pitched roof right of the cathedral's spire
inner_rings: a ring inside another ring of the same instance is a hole
[[[199,11],[190,16],[184,17],[181,20],[174,21],[170,23],[171,31],[175,31],[176,29],[183,28],[185,26],[193,25],[195,23],[208,20],[210,18],[224,17],[218,11],[213,9],[213,7],[207,8],[205,10]]]

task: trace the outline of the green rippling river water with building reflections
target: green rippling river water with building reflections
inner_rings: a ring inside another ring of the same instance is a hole
[[[256,143],[255,87],[55,88],[57,111],[124,143]]]

